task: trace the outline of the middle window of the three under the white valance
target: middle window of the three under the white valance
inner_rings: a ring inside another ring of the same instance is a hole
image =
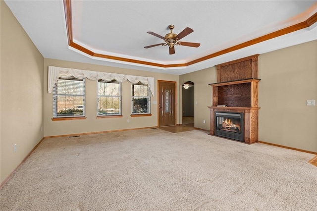
[[[121,83],[98,80],[97,116],[121,115]]]

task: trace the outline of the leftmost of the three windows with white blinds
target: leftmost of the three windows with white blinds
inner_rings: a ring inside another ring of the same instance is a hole
[[[53,87],[53,118],[85,116],[85,79],[58,78]]]

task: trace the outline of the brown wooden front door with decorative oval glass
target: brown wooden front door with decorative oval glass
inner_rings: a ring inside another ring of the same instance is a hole
[[[159,127],[176,125],[176,82],[158,81]]]

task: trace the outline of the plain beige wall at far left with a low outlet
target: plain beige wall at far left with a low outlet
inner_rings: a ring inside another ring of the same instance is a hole
[[[43,138],[43,56],[5,2],[0,5],[2,182]]]

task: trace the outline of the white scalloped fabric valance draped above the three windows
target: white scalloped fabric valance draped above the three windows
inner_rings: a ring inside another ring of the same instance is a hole
[[[102,79],[104,81],[111,81],[112,79],[115,79],[119,82],[124,82],[128,80],[132,84],[141,82],[149,86],[151,94],[152,96],[154,96],[154,78],[152,77],[123,75],[117,73],[106,73],[54,66],[49,66],[48,92],[52,93],[54,84],[57,82],[58,78],[68,78],[70,76],[73,76],[75,78],[88,78],[89,80],[94,81],[99,79]]]

